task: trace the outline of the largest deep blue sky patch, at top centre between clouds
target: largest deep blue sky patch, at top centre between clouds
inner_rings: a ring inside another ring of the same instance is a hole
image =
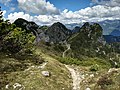
[[[60,10],[69,9],[71,11],[80,10],[90,6],[91,0],[47,0],[53,3]]]

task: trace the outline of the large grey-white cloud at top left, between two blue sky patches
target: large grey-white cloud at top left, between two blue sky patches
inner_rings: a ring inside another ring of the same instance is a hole
[[[34,14],[59,14],[59,10],[46,0],[17,0],[19,8]]]

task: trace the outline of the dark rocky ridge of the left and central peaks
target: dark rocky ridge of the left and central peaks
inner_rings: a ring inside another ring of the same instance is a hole
[[[14,24],[17,27],[25,29],[28,33],[32,32],[36,36],[36,42],[43,40],[45,42],[60,43],[65,41],[71,34],[71,31],[60,22],[54,23],[50,27],[39,27],[35,22],[18,18]]]

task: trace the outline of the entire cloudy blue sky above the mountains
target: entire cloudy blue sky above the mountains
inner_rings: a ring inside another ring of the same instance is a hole
[[[50,25],[120,19],[120,0],[0,0],[4,17]]]

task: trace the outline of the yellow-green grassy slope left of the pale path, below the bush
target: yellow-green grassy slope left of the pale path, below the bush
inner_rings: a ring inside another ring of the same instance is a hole
[[[40,54],[40,50],[37,50],[36,53]],[[13,90],[15,83],[22,85],[16,88],[16,90],[19,88],[24,88],[25,90],[71,90],[72,80],[65,66],[48,55],[41,54],[41,56],[48,62],[45,68],[40,69],[38,67],[41,65],[29,63],[28,67],[24,68],[24,70],[18,70],[4,75],[0,74],[0,84],[3,86],[8,85],[9,90]],[[6,58],[5,60],[8,62],[9,59]],[[4,61],[3,58],[0,61]],[[19,62],[11,58],[11,63],[15,64]],[[1,64],[6,63],[1,62]],[[41,74],[44,70],[50,72],[50,77],[44,77]],[[1,89],[5,90],[4,87]]]

